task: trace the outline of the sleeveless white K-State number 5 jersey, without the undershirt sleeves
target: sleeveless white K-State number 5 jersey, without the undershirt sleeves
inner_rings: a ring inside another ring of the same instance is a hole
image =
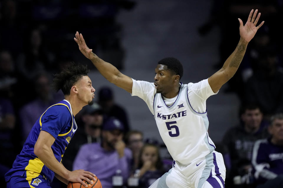
[[[215,146],[208,136],[207,113],[195,112],[187,97],[187,84],[181,84],[175,103],[167,107],[161,93],[154,96],[154,119],[170,155],[182,164],[205,157]]]

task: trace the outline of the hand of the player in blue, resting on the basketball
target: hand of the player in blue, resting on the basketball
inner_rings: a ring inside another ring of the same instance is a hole
[[[82,169],[69,171],[69,177],[67,179],[70,182],[79,182],[85,187],[88,187],[88,185],[85,184],[85,181],[87,181],[90,184],[93,184],[93,182],[91,182],[90,179],[92,179],[93,181],[96,181],[95,174],[82,170]]]

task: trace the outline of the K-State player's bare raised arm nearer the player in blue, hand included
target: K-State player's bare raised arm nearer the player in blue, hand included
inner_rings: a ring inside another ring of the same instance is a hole
[[[94,66],[98,69],[101,75],[104,76],[109,82],[117,85],[118,87],[132,93],[133,80],[124,74],[122,74],[115,66],[110,63],[103,61],[96,54],[92,52],[92,49],[89,49],[86,46],[83,35],[77,31],[75,34],[74,40],[77,42],[79,49],[83,55],[90,59]]]

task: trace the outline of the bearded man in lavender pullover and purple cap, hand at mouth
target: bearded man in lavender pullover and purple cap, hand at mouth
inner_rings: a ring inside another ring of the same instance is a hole
[[[73,170],[95,172],[103,188],[112,187],[112,177],[121,170],[123,182],[129,177],[132,153],[123,142],[124,125],[110,118],[103,124],[101,143],[82,145],[73,163]]]

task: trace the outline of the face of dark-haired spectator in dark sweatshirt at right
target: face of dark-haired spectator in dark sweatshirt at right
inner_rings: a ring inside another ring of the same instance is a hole
[[[242,115],[242,120],[245,126],[248,126],[249,129],[259,128],[262,118],[263,118],[262,113],[258,108],[254,110],[247,109],[245,113]]]

